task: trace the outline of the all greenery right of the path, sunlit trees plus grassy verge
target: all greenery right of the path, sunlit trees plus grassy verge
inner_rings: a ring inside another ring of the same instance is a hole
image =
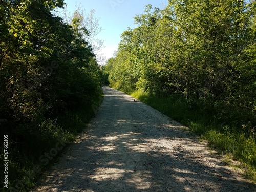
[[[256,181],[255,1],[145,6],[103,68],[111,87],[190,127]],[[107,80],[106,80],[107,79]]]

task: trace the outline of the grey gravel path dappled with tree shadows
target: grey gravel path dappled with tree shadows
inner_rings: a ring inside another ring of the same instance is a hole
[[[89,127],[33,191],[256,191],[178,122],[103,92]]]

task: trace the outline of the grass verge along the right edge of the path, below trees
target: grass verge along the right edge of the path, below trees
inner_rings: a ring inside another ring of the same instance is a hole
[[[245,176],[256,182],[256,139],[252,123],[248,122],[255,121],[255,117],[248,115],[246,119],[245,113],[237,109],[225,105],[220,108],[221,103],[186,100],[177,95],[160,98],[134,91],[131,96],[188,126],[220,154],[239,160]]]

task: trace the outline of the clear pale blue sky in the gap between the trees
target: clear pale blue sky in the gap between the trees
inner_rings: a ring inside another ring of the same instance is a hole
[[[108,59],[117,50],[122,32],[127,27],[136,27],[133,17],[144,13],[145,5],[163,9],[168,0],[65,0],[65,3],[71,13],[80,3],[87,13],[92,9],[96,11],[95,16],[100,18],[100,26],[104,29],[97,38],[104,40],[102,53]]]

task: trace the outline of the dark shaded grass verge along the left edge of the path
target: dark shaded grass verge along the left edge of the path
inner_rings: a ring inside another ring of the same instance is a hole
[[[8,146],[8,189],[3,191],[28,191],[31,189],[42,171],[48,169],[66,146],[86,128],[89,120],[102,102],[102,91],[90,102],[84,102],[76,111],[68,111],[55,119],[46,119],[34,129],[23,125],[20,134],[23,138],[16,140],[9,136]],[[36,128],[36,129],[35,129]],[[30,132],[26,132],[30,130]],[[31,131],[33,130],[33,131]],[[4,148],[2,146],[2,151]],[[1,156],[3,162],[3,156]]]

